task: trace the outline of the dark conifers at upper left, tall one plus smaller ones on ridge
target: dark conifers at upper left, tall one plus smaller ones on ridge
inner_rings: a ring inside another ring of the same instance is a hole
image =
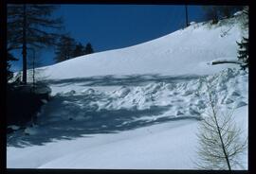
[[[12,78],[11,61],[22,59],[22,83],[27,84],[27,64],[39,61],[36,53],[47,47],[53,47],[55,61],[65,61],[94,52],[91,43],[82,45],[64,31],[62,17],[52,16],[56,5],[10,4],[7,6],[7,82]],[[18,53],[22,54],[19,58]],[[33,68],[35,68],[33,66]]]

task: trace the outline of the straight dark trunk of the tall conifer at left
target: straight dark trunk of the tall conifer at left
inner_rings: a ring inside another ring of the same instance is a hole
[[[23,76],[22,81],[27,84],[27,12],[26,4],[23,5]]]

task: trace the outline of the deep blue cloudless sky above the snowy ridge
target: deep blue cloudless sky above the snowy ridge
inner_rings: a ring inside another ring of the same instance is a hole
[[[203,21],[200,6],[189,6],[188,13],[190,22]],[[63,16],[64,30],[82,44],[92,43],[95,52],[151,41],[185,26],[181,5],[61,5],[53,16]],[[52,48],[37,57],[41,66],[54,63]],[[22,59],[12,64],[12,70],[20,70]]]

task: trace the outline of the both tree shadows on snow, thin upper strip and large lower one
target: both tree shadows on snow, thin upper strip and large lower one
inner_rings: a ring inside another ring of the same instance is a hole
[[[122,78],[115,76],[68,78],[45,82],[54,85],[81,83],[81,85],[86,86],[130,86],[148,82],[170,83],[194,78],[198,78],[198,76],[133,75]],[[178,119],[198,119],[197,116],[191,115],[175,117],[172,113],[163,114],[170,110],[170,106],[151,106],[143,110],[140,110],[137,105],[129,109],[101,109],[99,105],[95,104],[100,100],[106,100],[105,103],[107,104],[115,98],[105,96],[104,93],[52,96],[52,99],[43,107],[42,113],[37,117],[36,126],[29,128],[34,133],[26,135],[24,130],[18,130],[8,135],[7,144],[9,147],[17,148],[43,146],[56,140],[90,137],[96,133],[117,133]]]

